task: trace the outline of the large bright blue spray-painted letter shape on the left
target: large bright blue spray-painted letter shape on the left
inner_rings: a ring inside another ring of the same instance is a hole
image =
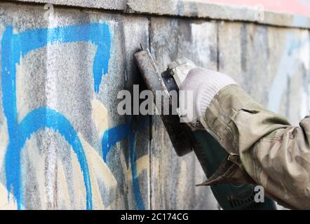
[[[86,209],[92,209],[93,203],[86,155],[76,131],[67,118],[53,109],[41,107],[28,113],[18,123],[16,64],[19,64],[20,58],[25,57],[30,51],[42,48],[48,44],[90,41],[97,45],[97,52],[93,62],[93,78],[94,90],[98,92],[102,73],[106,74],[108,71],[111,47],[110,36],[109,27],[106,24],[98,23],[57,27],[54,29],[32,29],[19,34],[14,34],[12,27],[7,27],[6,31],[4,31],[1,41],[1,87],[9,137],[5,158],[6,187],[9,192],[13,190],[18,209],[21,209],[22,205],[20,151],[25,141],[34,132],[46,127],[59,132],[72,146],[83,172],[83,181],[86,188]]]

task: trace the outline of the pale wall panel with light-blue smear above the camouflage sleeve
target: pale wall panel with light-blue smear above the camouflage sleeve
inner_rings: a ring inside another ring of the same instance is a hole
[[[219,25],[219,70],[293,125],[309,114],[309,31]]]

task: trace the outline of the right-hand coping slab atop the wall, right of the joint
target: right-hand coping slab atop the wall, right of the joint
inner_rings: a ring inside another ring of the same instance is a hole
[[[175,1],[175,0],[128,0],[128,11],[155,15],[179,15],[184,17],[208,18],[215,20],[248,21],[265,25],[309,28],[310,19],[302,15],[290,15],[264,10],[264,17],[255,8],[227,6],[216,3]]]

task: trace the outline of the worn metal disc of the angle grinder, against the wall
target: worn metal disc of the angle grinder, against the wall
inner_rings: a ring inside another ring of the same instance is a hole
[[[151,90],[154,95],[154,102],[156,104],[156,91],[162,91],[166,96],[164,99],[169,99],[170,110],[172,109],[171,97],[168,92],[171,88],[165,85],[167,82],[167,73],[159,73],[154,59],[151,57],[149,50],[140,50],[135,53],[135,61],[142,74],[144,82],[147,88]],[[171,81],[173,79],[171,78]],[[177,86],[177,85],[175,85]],[[189,127],[184,123],[180,123],[180,118],[177,115],[169,113],[168,115],[163,114],[164,102],[161,100],[161,105],[156,104],[158,109],[161,109],[161,119],[166,127],[169,134],[170,140],[175,148],[177,155],[182,156],[192,151],[191,147],[191,132]]]

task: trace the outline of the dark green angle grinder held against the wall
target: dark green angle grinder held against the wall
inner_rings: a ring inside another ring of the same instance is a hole
[[[221,169],[223,161],[227,161],[228,153],[220,144],[203,128],[191,127],[180,122],[177,108],[173,106],[170,91],[179,91],[181,83],[187,76],[190,69],[196,67],[194,62],[184,57],[171,62],[166,71],[160,72],[156,62],[149,50],[140,50],[135,53],[135,62],[142,74],[147,88],[156,96],[156,91],[161,91],[166,95],[170,105],[170,113],[163,113],[165,102],[161,100],[154,103],[161,111],[161,119],[166,127],[170,141],[175,148],[177,155],[182,156],[194,151],[205,175],[210,182],[213,174]],[[174,112],[174,113],[173,113]],[[199,125],[199,123],[197,124]],[[203,184],[202,184],[203,185]],[[255,185],[242,184],[234,185],[231,183],[221,183],[212,185],[211,190],[222,209],[276,209],[274,201],[264,197],[263,202],[255,202]]]

